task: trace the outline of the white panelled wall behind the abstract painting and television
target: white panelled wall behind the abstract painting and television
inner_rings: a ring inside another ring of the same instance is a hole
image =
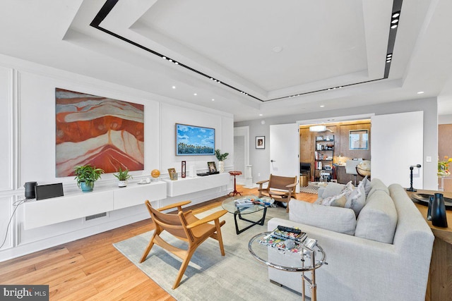
[[[24,199],[25,182],[61,182],[65,195],[78,191],[73,177],[55,176],[56,87],[144,105],[145,169],[131,172],[133,181],[138,182],[149,176],[155,168],[160,169],[162,177],[165,177],[169,167],[180,171],[183,159],[187,165],[194,162],[198,169],[207,169],[207,161],[216,161],[215,156],[175,156],[174,123],[215,128],[215,146],[231,154],[226,166],[233,164],[234,128],[231,114],[0,55],[0,245],[12,216],[6,243],[0,249],[0,261],[148,219],[144,205],[138,205],[110,211],[106,217],[93,221],[75,219],[25,230],[24,206],[19,206],[13,214],[16,209],[14,202]],[[102,175],[102,179],[96,182],[96,187],[102,189],[114,188],[115,185],[117,180],[112,173]],[[176,199],[161,199],[158,204],[168,204],[177,199],[203,202],[225,195],[231,189],[230,184]]]

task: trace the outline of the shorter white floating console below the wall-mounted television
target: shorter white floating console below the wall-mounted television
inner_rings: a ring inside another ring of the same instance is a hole
[[[194,178],[181,178],[178,180],[163,179],[167,183],[167,195],[177,197],[192,192],[208,190],[220,186],[228,185],[230,181],[229,173],[218,173],[210,176],[196,176]]]

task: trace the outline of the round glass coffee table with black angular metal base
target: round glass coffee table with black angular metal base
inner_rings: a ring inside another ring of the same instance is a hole
[[[236,201],[243,201],[247,199],[254,199],[259,202],[259,204],[252,204],[249,207],[237,207]],[[266,220],[267,208],[271,206],[275,202],[274,199],[270,197],[256,197],[255,195],[244,195],[244,196],[235,196],[228,197],[225,199],[221,206],[223,209],[227,210],[229,213],[234,214],[234,223],[235,223],[235,232],[237,234],[242,233],[243,231],[251,228],[254,225],[263,225],[263,222]],[[262,218],[258,221],[251,221],[250,219],[245,219],[243,216],[246,214],[256,213],[258,211],[262,211]],[[237,225],[237,216],[242,221],[248,221],[251,223],[249,226],[246,226],[243,229],[239,230],[239,226]]]

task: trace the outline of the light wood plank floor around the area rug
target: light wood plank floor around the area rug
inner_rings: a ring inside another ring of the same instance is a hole
[[[257,192],[237,190],[244,195]],[[296,198],[314,202],[317,195],[299,193]],[[222,199],[191,209],[195,214],[206,211],[219,206]],[[152,229],[148,219],[0,262],[0,283],[49,285],[50,300],[174,300],[112,245]]]

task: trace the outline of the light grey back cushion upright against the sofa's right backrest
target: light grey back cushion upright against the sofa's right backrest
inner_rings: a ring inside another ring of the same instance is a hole
[[[386,192],[376,190],[367,198],[366,205],[359,212],[355,236],[379,242],[393,243],[397,219],[398,216],[393,199]]]

